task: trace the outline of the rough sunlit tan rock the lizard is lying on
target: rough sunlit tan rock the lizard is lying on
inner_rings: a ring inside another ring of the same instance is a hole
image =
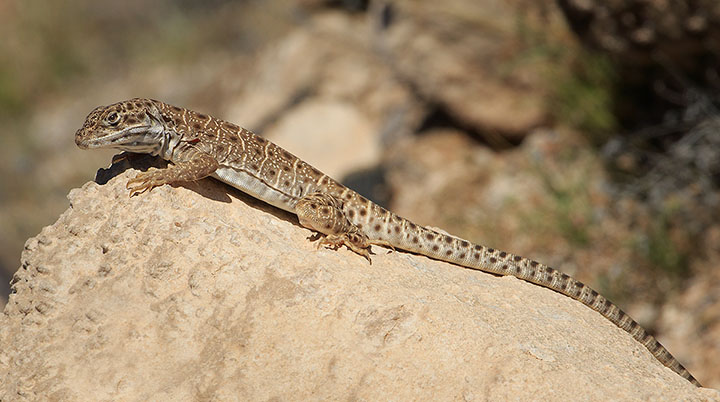
[[[720,400],[552,291],[316,250],[210,179],[73,190],[0,317],[0,400]]]

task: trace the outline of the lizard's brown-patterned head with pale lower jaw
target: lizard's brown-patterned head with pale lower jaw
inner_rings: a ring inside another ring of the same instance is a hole
[[[137,98],[95,108],[75,133],[75,144],[82,149],[156,153],[164,131],[156,103]]]

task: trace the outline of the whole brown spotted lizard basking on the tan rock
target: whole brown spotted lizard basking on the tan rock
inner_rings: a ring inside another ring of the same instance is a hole
[[[397,248],[552,289],[599,312],[662,364],[700,386],[643,327],[582,282],[536,261],[417,225],[235,124],[156,100],[131,99],[93,110],[75,142],[83,149],[116,148],[171,162],[129,180],[130,196],[212,176],[297,214],[302,226],[325,235],[321,245],[346,245],[368,260],[371,245]]]

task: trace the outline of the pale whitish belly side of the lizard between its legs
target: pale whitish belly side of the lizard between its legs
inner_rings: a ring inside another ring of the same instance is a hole
[[[297,201],[295,197],[275,189],[270,184],[247,172],[229,167],[220,167],[212,174],[212,177],[274,207],[292,213],[295,212],[295,201]]]

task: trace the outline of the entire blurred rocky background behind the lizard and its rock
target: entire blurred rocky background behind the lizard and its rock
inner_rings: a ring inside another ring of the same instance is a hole
[[[5,0],[0,35],[0,306],[110,162],[87,113],[151,97],[591,284],[720,386],[714,0]]]

